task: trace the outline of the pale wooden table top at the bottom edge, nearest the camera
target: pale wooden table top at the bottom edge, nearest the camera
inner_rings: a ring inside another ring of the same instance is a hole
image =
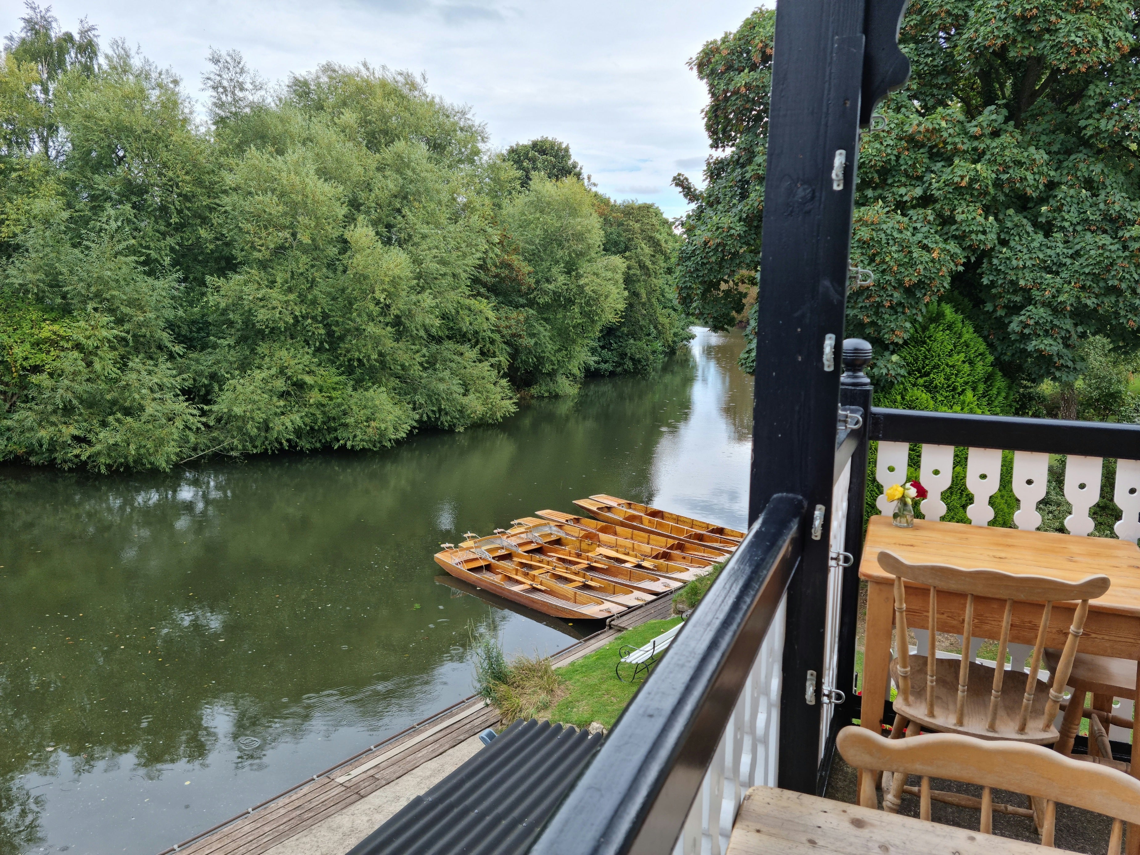
[[[727,855],[1044,855],[1044,846],[923,822],[777,787],[744,795]]]

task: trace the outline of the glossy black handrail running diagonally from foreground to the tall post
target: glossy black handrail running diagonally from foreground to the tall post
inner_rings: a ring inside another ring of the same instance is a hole
[[[796,571],[806,507],[772,497],[532,855],[671,849]]]

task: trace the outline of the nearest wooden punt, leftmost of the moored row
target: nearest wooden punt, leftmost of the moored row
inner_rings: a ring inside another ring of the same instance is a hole
[[[457,579],[555,618],[604,620],[626,606],[554,581],[523,575],[473,549],[445,549],[435,563]]]

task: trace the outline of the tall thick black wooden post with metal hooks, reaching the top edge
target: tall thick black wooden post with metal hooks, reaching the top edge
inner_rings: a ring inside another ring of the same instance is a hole
[[[771,497],[807,500],[788,591],[780,787],[814,792],[828,528],[863,73],[863,2],[796,0],[776,14],[764,186],[749,522]],[[816,679],[808,682],[808,671]]]

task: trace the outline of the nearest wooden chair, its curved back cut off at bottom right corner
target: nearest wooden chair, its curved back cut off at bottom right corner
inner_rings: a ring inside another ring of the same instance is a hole
[[[907,772],[920,775],[922,820],[930,820],[930,779],[939,777],[983,788],[979,828],[983,834],[993,833],[993,790],[1024,792],[1044,803],[1043,846],[1053,845],[1057,803],[1113,817],[1108,855],[1119,855],[1124,823],[1130,823],[1131,829],[1140,823],[1140,781],[1114,768],[1078,763],[1042,746],[986,742],[951,733],[885,740],[865,727],[845,727],[836,739],[836,747],[856,768],[887,769],[896,777]],[[863,774],[858,798],[863,807],[879,806],[870,772]]]

